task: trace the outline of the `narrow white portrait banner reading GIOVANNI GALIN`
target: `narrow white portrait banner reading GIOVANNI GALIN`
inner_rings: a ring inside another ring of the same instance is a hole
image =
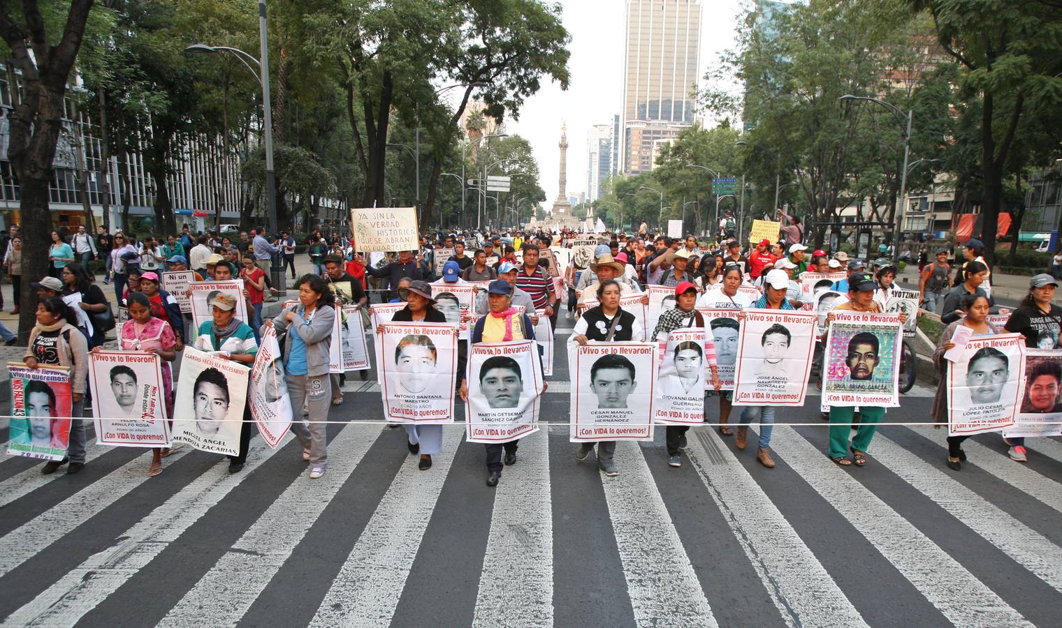
[[[660,365],[653,421],[674,425],[704,422],[704,330],[673,330]]]

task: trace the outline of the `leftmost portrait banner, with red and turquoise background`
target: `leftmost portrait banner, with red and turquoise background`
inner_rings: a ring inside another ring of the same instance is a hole
[[[29,368],[20,362],[8,362],[7,374],[11,377],[7,453],[40,460],[62,460],[70,442],[73,408],[69,369],[62,366]]]

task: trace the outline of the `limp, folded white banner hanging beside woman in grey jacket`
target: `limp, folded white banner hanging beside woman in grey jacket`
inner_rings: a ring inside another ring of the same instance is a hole
[[[291,398],[276,330],[266,328],[251,367],[251,416],[262,440],[276,449],[291,429]]]

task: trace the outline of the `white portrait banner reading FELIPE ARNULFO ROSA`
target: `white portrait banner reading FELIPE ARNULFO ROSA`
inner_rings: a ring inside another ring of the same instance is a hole
[[[88,354],[96,441],[124,447],[169,447],[161,359],[147,351]]]

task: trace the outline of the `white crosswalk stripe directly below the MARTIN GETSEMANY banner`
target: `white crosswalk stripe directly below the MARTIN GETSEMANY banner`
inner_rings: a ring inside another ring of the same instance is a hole
[[[473,626],[553,625],[549,430],[521,438],[519,453],[495,493]]]

